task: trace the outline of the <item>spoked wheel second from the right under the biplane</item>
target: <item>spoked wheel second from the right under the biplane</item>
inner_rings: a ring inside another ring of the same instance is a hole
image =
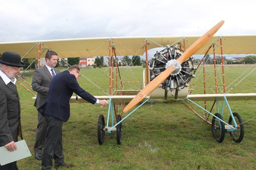
[[[216,113],[215,116],[223,120],[219,113]],[[217,142],[221,143],[225,137],[225,124],[216,117],[212,117],[212,136]]]

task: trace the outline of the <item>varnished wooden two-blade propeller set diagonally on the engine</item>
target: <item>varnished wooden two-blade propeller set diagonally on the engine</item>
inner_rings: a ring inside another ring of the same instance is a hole
[[[191,55],[195,54],[204,44],[210,40],[210,38],[220,29],[224,24],[224,20],[220,21],[218,24],[213,26],[209,31],[207,31],[202,37],[200,37],[196,42],[194,42],[176,61],[180,65],[185,62]],[[179,64],[175,62],[176,64]],[[173,62],[174,63],[174,62]],[[175,64],[172,64],[169,68],[164,70],[160,75],[153,79],[145,88],[143,88],[124,108],[124,112],[128,112],[132,107],[137,105],[141,100],[143,100],[148,94],[153,92],[163,81],[172,74],[175,68]]]

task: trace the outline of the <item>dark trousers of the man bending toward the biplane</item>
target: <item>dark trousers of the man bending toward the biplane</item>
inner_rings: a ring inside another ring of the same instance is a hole
[[[55,160],[55,166],[64,164],[64,155],[62,154],[63,122],[50,115],[45,115],[45,119],[47,122],[47,137],[44,143],[41,166],[42,169],[49,170],[52,167],[52,159]]]

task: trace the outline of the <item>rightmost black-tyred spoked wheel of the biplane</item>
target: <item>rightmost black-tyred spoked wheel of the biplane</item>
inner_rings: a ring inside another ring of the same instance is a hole
[[[244,138],[244,124],[241,116],[238,113],[233,113],[233,116],[236,121],[236,125],[238,125],[237,130],[229,132],[230,137],[235,141],[236,143],[239,143]],[[231,115],[229,116],[228,124],[235,127],[235,123],[232,120]]]

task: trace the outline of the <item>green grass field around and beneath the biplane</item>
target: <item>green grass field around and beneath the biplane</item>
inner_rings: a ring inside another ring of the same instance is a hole
[[[205,69],[206,91],[213,93],[213,66],[207,66]],[[247,70],[227,88],[227,91],[253,69],[255,65],[225,65],[226,87]],[[136,78],[132,76],[131,70]],[[143,68],[136,67],[131,70],[120,69],[124,81],[142,81]],[[197,70],[196,78],[192,81],[195,83],[193,93],[203,92],[201,70],[202,68]],[[221,92],[221,68],[218,67],[217,70],[218,91]],[[253,71],[229,93],[255,93],[255,73]],[[107,68],[84,69],[82,74],[105,91],[109,91]],[[26,78],[29,83],[31,80],[31,77]],[[80,78],[78,82],[93,95],[104,95],[85,78]],[[31,157],[22,159],[17,164],[24,170],[40,169],[41,161],[34,158],[33,150],[37,125],[34,100],[30,93],[20,85],[17,86],[21,101],[23,137],[32,153]],[[140,85],[126,85],[126,89],[139,88]],[[200,104],[203,106],[204,102]],[[256,116],[254,100],[229,101],[229,104],[232,111],[239,113],[244,121]],[[74,164],[73,169],[256,169],[256,119],[244,123],[245,135],[241,143],[233,142],[226,133],[224,141],[219,144],[212,138],[211,126],[189,110],[183,100],[154,100],[153,107],[150,106],[150,102],[146,103],[128,119],[142,116],[122,124],[121,145],[116,142],[115,132],[105,134],[105,142],[99,145],[96,123],[100,114],[104,115],[106,122],[108,108],[101,109],[97,104],[71,104],[70,119],[63,124],[65,162]],[[212,102],[207,102],[209,110],[211,106]],[[201,109],[195,109],[199,114],[204,114]],[[228,121],[227,109],[223,117]]]

